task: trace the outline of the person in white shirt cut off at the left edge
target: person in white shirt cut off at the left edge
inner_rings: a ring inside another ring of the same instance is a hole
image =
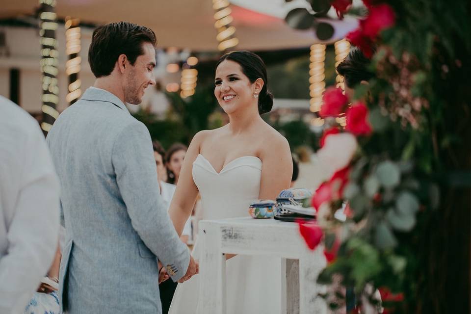
[[[0,96],[0,313],[23,313],[51,266],[59,232],[59,183],[44,135]]]

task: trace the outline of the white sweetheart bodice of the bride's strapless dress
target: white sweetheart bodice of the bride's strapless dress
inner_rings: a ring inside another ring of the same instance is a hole
[[[218,173],[203,155],[193,162],[193,180],[201,194],[203,219],[247,216],[251,202],[259,198],[262,160],[238,157]]]

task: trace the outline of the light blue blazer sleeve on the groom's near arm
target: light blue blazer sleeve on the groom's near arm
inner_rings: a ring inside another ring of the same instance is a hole
[[[117,134],[112,149],[116,181],[131,224],[144,244],[169,271],[172,280],[183,277],[190,254],[180,241],[160,196],[152,141],[137,120]]]

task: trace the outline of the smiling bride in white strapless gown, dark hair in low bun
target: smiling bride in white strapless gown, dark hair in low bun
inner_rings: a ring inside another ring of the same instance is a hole
[[[288,141],[260,116],[273,105],[262,59],[247,51],[223,55],[216,64],[214,84],[214,95],[229,123],[201,131],[191,141],[169,209],[179,234],[198,191],[203,219],[233,218],[247,216],[256,199],[275,199],[291,182]],[[198,241],[192,254],[199,259]],[[227,313],[280,313],[281,260],[226,256]],[[198,289],[198,275],[179,284],[169,313],[196,313]]]

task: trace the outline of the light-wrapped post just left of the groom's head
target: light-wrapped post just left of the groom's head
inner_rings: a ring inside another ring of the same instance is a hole
[[[74,104],[82,95],[81,81],[78,78],[82,62],[82,58],[79,56],[81,49],[79,24],[79,19],[71,19],[70,16],[65,18],[65,52],[69,56],[69,60],[65,64],[65,73],[69,76],[68,93],[65,99],[69,105]]]

